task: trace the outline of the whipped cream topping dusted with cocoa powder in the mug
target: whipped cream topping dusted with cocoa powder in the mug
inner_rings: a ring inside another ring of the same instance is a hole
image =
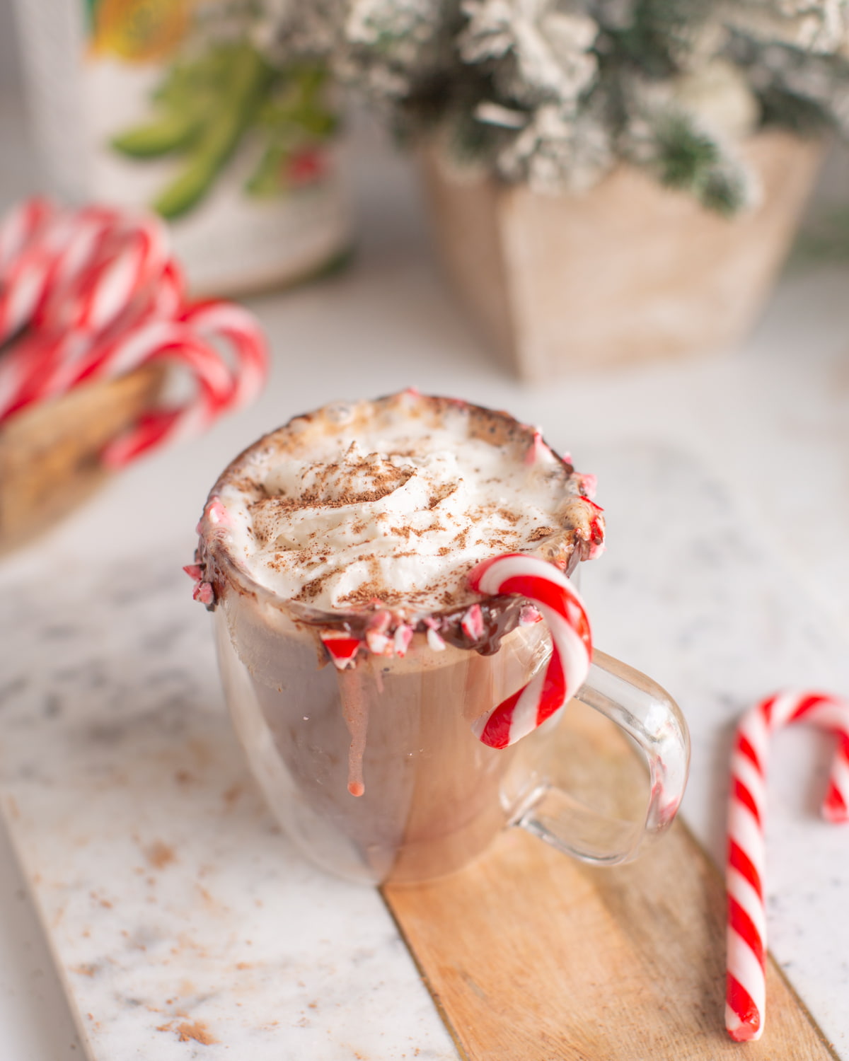
[[[506,414],[406,390],[266,435],[219,480],[201,529],[283,598],[421,616],[479,599],[465,576],[487,557],[567,568],[599,552],[590,482]]]

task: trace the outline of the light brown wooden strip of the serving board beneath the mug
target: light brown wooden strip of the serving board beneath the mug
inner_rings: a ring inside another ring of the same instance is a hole
[[[577,769],[561,780],[579,793],[592,777],[621,794],[633,752],[573,708],[558,761]],[[613,869],[510,829],[462,872],[383,893],[468,1061],[836,1057],[772,959],[763,1038],[728,1038],[724,886],[680,821]]]

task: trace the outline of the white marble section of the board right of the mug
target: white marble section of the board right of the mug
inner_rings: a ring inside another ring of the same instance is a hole
[[[582,575],[595,641],[681,705],[692,738],[681,813],[722,866],[735,720],[778,689],[849,694],[849,645],[700,463],[640,443],[591,456],[610,527],[604,562]],[[773,741],[765,890],[769,949],[846,1059],[849,829],[819,816],[832,750],[809,727]],[[767,1041],[768,1027],[767,999]]]

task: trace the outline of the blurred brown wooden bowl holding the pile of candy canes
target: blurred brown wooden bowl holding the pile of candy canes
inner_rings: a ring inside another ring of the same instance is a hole
[[[101,451],[156,404],[163,378],[163,366],[143,366],[0,425],[0,552],[47,529],[97,489],[107,475]]]

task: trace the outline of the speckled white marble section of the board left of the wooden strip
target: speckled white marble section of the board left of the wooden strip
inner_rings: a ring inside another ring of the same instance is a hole
[[[455,1058],[379,893],[272,823],[176,560],[0,603],[0,800],[89,1056]]]

